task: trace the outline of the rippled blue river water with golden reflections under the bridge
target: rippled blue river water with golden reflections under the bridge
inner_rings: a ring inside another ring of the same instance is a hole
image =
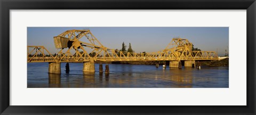
[[[161,65],[109,64],[109,75],[83,73],[83,63],[61,63],[61,75],[48,72],[48,63],[27,64],[28,88],[228,88],[228,67],[169,68]],[[105,71],[105,64],[103,64]]]

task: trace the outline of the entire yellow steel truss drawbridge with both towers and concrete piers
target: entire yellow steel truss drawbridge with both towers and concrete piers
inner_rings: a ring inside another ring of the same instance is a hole
[[[94,62],[170,61],[170,68],[180,68],[181,61],[185,61],[185,67],[195,67],[196,61],[220,60],[214,51],[193,51],[193,44],[182,38],[173,38],[164,50],[151,53],[107,48],[90,30],[67,30],[53,40],[57,54],[51,54],[44,46],[27,46],[27,62],[49,62],[49,73],[60,73],[61,62],[82,62],[84,72],[95,72]]]

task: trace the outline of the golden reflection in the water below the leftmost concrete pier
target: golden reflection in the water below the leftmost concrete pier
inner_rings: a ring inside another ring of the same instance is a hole
[[[48,73],[49,87],[60,87],[60,74]]]

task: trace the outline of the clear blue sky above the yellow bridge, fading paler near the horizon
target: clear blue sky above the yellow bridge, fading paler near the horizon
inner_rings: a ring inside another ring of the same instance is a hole
[[[217,51],[225,55],[229,46],[228,27],[28,27],[27,45],[42,45],[52,54],[57,53],[53,37],[71,29],[90,29],[102,45],[111,49],[126,50],[131,43],[132,50],[156,52],[164,50],[173,37],[188,39],[202,51]]]

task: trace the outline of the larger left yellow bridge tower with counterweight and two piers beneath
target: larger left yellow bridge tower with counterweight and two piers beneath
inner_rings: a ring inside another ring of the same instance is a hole
[[[83,72],[95,72],[94,61],[102,50],[106,50],[90,30],[67,30],[53,37],[55,48],[61,49],[59,59],[66,62],[83,62]],[[65,51],[66,48],[66,51]],[[85,50],[89,48],[89,50]],[[59,73],[60,63],[49,63],[49,73]]]

